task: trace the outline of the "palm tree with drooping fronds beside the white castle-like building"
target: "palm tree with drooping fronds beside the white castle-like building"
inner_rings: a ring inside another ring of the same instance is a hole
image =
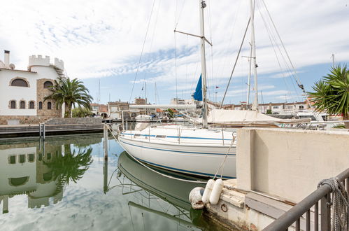
[[[89,94],[89,90],[83,85],[83,81],[74,78],[58,78],[55,80],[55,85],[50,87],[52,92],[49,96],[44,98],[54,99],[56,101],[56,109],[59,109],[62,104],[68,109],[68,115],[71,117],[71,111],[73,106],[81,106],[86,109],[91,109],[92,96]]]

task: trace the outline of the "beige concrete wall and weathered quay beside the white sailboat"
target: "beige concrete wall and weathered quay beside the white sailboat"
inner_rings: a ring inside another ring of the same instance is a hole
[[[349,132],[243,128],[237,137],[237,179],[225,181],[218,204],[206,204],[208,216],[231,228],[266,228],[349,167]]]

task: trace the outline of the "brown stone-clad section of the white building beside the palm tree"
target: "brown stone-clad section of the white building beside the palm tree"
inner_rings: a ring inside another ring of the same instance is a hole
[[[48,99],[44,102],[44,98],[50,95],[52,92],[48,89],[43,87],[43,83],[46,81],[50,81],[53,84],[55,84],[55,80],[50,78],[41,78],[36,80],[36,112],[38,116],[50,116],[52,117],[61,117],[62,116],[62,109],[56,109],[56,102],[55,100]],[[43,102],[43,109],[39,109],[39,102]],[[52,108],[48,109],[48,102],[52,103]]]

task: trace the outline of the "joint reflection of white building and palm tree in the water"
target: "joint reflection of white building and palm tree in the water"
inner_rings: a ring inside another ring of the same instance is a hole
[[[92,148],[84,148],[81,144],[81,147],[71,150],[71,141],[36,139],[0,144],[0,204],[3,214],[9,212],[10,198],[16,195],[27,195],[28,208],[31,209],[62,200],[64,187],[81,179],[92,163]]]

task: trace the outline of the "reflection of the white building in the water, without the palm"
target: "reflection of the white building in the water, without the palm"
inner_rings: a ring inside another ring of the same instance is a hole
[[[2,213],[11,207],[11,198],[27,195],[28,208],[47,207],[56,204],[63,197],[63,190],[57,189],[58,179],[52,176],[52,169],[47,166],[59,153],[60,146],[46,146],[46,152],[39,151],[36,143],[12,145],[13,148],[0,148],[0,204]],[[16,200],[12,199],[13,204]],[[51,202],[50,202],[51,201]]]

